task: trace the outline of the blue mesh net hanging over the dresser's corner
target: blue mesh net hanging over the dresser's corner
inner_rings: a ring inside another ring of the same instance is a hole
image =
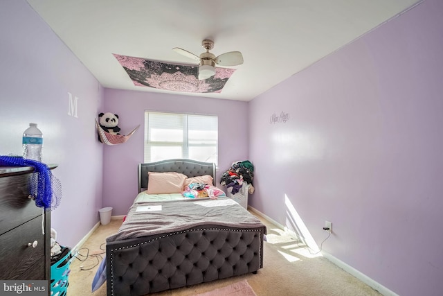
[[[35,204],[48,211],[58,207],[62,199],[62,184],[46,164],[19,156],[0,155],[0,166],[32,166],[34,173],[29,179],[29,193]]]

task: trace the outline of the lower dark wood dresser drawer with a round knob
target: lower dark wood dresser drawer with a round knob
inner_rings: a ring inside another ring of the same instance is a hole
[[[28,243],[37,241],[37,246]],[[0,236],[0,279],[45,279],[42,216]]]

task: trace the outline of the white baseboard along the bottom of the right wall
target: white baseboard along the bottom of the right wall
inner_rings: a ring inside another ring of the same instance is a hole
[[[264,218],[264,219],[268,220],[269,222],[275,224],[275,226],[283,229],[285,232],[288,232],[293,237],[298,238],[298,235],[295,232],[293,232],[291,229],[289,229],[288,227],[285,227],[284,225],[281,225],[280,223],[276,222],[272,218],[270,218],[270,217],[266,216],[265,214],[263,214],[261,211],[258,211],[257,209],[255,209],[255,208],[253,208],[251,206],[248,206],[248,210],[253,212],[254,214],[257,214],[257,216],[261,216],[262,218]],[[328,259],[329,261],[331,261],[332,263],[337,265],[339,268],[345,270],[345,272],[347,272],[350,275],[356,277],[360,281],[363,281],[363,283],[367,284],[368,286],[370,286],[374,290],[379,291],[379,293],[381,293],[381,295],[384,295],[384,296],[399,296],[397,293],[392,292],[391,290],[389,290],[385,286],[377,283],[377,281],[374,281],[373,279],[371,279],[367,275],[364,275],[362,272],[359,272],[359,270],[356,270],[352,266],[347,265],[345,262],[341,261],[340,259],[337,259],[336,257],[332,256],[331,254],[329,254],[329,253],[327,253],[325,251],[322,251],[321,254],[323,254],[323,256],[326,259]]]

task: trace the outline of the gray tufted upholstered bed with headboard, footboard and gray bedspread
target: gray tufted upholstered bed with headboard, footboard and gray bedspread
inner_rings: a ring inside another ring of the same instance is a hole
[[[147,198],[155,173],[171,172],[187,181],[208,175],[215,180],[212,163],[169,159],[138,165],[138,195],[118,233],[107,238],[107,295],[146,295],[263,267],[266,227],[230,198]]]

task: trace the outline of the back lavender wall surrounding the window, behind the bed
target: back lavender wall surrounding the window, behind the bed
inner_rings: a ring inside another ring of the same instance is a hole
[[[145,110],[218,116],[219,163],[221,173],[236,160],[248,157],[248,103],[176,94],[157,94],[105,89],[102,112],[119,116],[123,134],[140,128],[126,143],[106,146],[103,153],[103,204],[113,207],[113,215],[124,215],[137,194],[137,165],[143,162]]]

